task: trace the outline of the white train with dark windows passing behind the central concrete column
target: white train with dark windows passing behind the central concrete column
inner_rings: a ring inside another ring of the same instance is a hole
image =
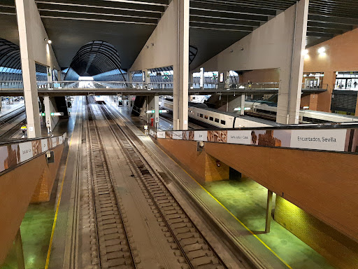
[[[162,108],[173,111],[173,102],[169,99],[161,99]],[[227,113],[209,109],[205,104],[189,102],[188,117],[192,123],[203,127],[241,128],[241,127],[270,127],[280,126],[271,120],[262,120],[250,116],[238,116],[235,113]]]

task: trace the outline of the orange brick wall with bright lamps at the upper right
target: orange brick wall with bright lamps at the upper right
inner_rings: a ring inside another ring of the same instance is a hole
[[[304,61],[305,72],[324,72],[323,84],[328,84],[328,92],[318,96],[317,110],[330,111],[331,92],[336,82],[336,71],[358,71],[358,29],[341,34],[329,41],[308,48]],[[318,49],[326,48],[326,53]]]

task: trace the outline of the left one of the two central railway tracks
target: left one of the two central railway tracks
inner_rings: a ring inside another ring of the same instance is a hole
[[[90,143],[90,174],[95,220],[92,225],[96,238],[92,238],[98,248],[98,257],[92,255],[92,264],[100,268],[131,269],[136,268],[138,258],[131,248],[130,233],[127,230],[125,216],[115,195],[108,164],[103,154],[104,149],[98,128],[92,116],[90,105],[87,106],[88,130]],[[96,249],[94,247],[94,249]]]

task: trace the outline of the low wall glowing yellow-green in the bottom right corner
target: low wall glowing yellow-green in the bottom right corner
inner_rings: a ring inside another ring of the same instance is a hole
[[[327,258],[336,268],[358,268],[358,243],[276,196],[275,221]]]

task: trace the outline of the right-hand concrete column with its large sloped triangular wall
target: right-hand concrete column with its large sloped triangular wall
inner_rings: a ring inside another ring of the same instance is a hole
[[[201,67],[206,71],[279,69],[276,121],[299,123],[307,18],[308,0],[298,1]]]

